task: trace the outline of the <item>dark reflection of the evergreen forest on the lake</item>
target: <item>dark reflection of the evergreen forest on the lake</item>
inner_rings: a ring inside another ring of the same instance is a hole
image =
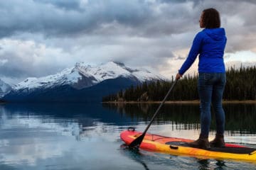
[[[121,115],[128,115],[132,119],[149,121],[154,115],[159,104],[103,104],[105,108],[117,111]],[[255,104],[225,104],[223,106],[226,115],[225,129],[233,134],[255,134],[256,133],[256,105]],[[213,112],[213,111],[212,111]],[[161,108],[155,123],[174,123],[176,129],[198,129],[200,111],[198,104],[166,104]],[[213,114],[213,121],[215,120]],[[210,130],[215,130],[212,121]],[[181,126],[182,125],[182,126]]]

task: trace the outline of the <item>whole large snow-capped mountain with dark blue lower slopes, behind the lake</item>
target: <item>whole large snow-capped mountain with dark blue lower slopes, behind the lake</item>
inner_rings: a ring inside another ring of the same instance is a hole
[[[107,62],[92,67],[83,62],[54,75],[28,78],[4,96],[6,101],[100,101],[143,81],[165,80],[146,69],[133,69],[122,63]]]

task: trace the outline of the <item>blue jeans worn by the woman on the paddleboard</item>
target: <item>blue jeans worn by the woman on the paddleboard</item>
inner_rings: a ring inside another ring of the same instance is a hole
[[[225,88],[225,73],[199,73],[198,94],[201,111],[201,135],[208,137],[210,130],[210,104],[216,118],[216,132],[223,135],[225,128],[225,113],[222,107],[223,91]]]

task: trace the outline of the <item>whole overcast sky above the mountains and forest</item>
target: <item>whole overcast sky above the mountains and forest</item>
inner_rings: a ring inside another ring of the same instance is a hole
[[[210,7],[226,30],[225,62],[256,62],[254,0],[1,0],[0,79],[15,84],[109,61],[171,77]]]

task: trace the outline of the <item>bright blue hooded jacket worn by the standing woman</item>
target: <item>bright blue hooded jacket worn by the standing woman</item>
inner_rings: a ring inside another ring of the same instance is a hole
[[[199,54],[198,72],[224,73],[223,60],[227,38],[224,28],[203,29],[193,40],[193,45],[186,61],[178,70],[183,75]]]

